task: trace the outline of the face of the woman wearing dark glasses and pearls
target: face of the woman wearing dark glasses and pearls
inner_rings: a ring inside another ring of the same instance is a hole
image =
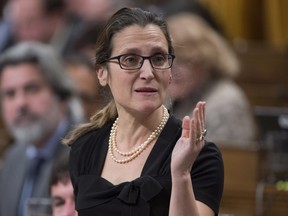
[[[156,25],[124,28],[114,35],[112,47],[111,57],[123,54],[168,54],[167,40]],[[109,85],[118,112],[124,109],[148,113],[163,104],[171,79],[171,69],[153,69],[148,59],[145,59],[140,69],[132,71],[121,69],[117,60],[107,64],[107,68],[100,73],[102,76],[99,73],[98,76],[101,84]]]

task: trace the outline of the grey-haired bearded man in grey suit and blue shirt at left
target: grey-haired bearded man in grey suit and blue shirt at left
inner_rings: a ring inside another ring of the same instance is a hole
[[[49,197],[53,160],[69,149],[61,139],[82,119],[73,88],[47,45],[23,42],[0,56],[1,112],[15,140],[0,176],[1,216],[24,215],[30,197]]]

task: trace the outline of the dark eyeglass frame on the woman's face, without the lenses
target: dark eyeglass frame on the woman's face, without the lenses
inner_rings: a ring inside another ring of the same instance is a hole
[[[165,68],[158,68],[158,67],[155,67],[152,63],[152,60],[151,58],[155,57],[155,56],[158,56],[158,55],[163,55],[163,56],[167,56],[167,59],[168,59],[168,63],[169,63],[169,66],[168,67],[165,67]],[[125,66],[123,66],[121,64],[121,61],[120,59],[123,57],[123,56],[137,56],[137,57],[141,57],[142,58],[142,61],[140,62],[140,65],[138,67],[135,67],[135,68],[126,68]],[[169,68],[172,67],[173,65],[173,61],[175,59],[175,55],[173,54],[160,54],[160,53],[157,53],[157,54],[154,54],[152,56],[142,56],[142,55],[137,55],[137,54],[122,54],[122,55],[118,55],[118,56],[113,56],[111,58],[108,58],[106,59],[104,62],[112,62],[111,60],[118,60],[118,64],[120,66],[121,69],[123,70],[139,70],[140,68],[142,68],[143,64],[144,64],[144,61],[148,59],[149,62],[150,62],[150,65],[152,66],[153,69],[156,69],[156,70],[167,70]],[[170,60],[169,60],[170,59]]]

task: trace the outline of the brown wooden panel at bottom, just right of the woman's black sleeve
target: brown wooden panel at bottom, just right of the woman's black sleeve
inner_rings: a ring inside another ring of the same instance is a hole
[[[225,168],[221,213],[253,216],[256,212],[256,187],[260,176],[257,150],[221,147]]]

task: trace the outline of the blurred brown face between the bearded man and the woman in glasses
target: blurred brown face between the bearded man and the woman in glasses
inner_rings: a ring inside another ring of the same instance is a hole
[[[75,85],[80,97],[86,119],[89,119],[95,112],[102,107],[99,96],[97,77],[94,71],[83,65],[71,65],[67,71],[75,81]]]

